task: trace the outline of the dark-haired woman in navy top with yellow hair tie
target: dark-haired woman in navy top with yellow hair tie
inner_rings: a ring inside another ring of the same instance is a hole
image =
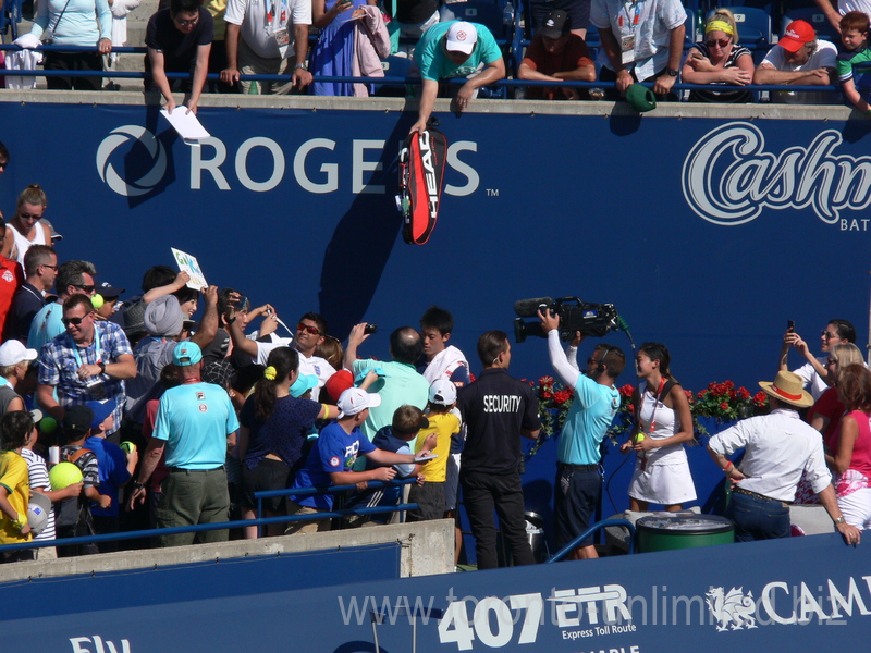
[[[335,406],[291,395],[291,385],[299,375],[299,355],[291,347],[278,347],[269,354],[263,379],[245,402],[240,414],[238,459],[242,460],[242,518],[254,519],[255,492],[290,488],[298,468],[305,464],[303,445],[317,419],[339,415]],[[263,501],[267,517],[283,514],[284,497]],[[279,535],[285,525],[274,523],[267,534]],[[245,528],[245,537],[257,538],[257,527]]]

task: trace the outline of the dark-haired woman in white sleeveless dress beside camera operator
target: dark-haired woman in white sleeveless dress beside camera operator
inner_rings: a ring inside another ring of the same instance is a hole
[[[629,484],[630,510],[647,510],[654,503],[676,512],[696,498],[684,451],[684,443],[692,440],[692,416],[670,362],[668,349],[660,343],[645,343],[635,357],[638,430],[621,447],[624,454],[634,451],[638,458]]]

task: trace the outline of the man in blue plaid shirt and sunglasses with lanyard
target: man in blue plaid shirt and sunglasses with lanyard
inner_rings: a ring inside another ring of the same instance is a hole
[[[136,375],[130,342],[118,324],[95,323],[87,295],[72,295],[63,303],[63,325],[66,332],[47,343],[39,354],[37,402],[61,421],[69,406],[114,399],[115,423],[108,434],[113,442],[125,399],[124,379]],[[53,396],[56,389],[58,399]]]

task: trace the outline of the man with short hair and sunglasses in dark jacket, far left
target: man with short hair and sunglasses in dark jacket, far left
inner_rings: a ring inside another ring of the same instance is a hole
[[[3,326],[3,340],[27,344],[30,322],[46,305],[46,293],[54,287],[58,255],[48,245],[32,245],[24,255],[24,283],[12,297],[12,306]]]

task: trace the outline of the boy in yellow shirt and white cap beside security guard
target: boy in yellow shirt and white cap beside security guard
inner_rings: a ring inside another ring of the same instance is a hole
[[[451,414],[456,405],[456,385],[447,379],[437,379],[429,387],[429,427],[421,429],[415,442],[415,453],[425,448],[427,438],[437,436],[432,453],[438,458],[430,460],[422,469],[426,482],[412,485],[409,503],[418,504],[416,510],[408,513],[408,521],[441,519],[444,517],[444,488],[447,475],[447,458],[451,453],[451,436],[459,433],[459,419]],[[428,448],[428,447],[427,447]]]

